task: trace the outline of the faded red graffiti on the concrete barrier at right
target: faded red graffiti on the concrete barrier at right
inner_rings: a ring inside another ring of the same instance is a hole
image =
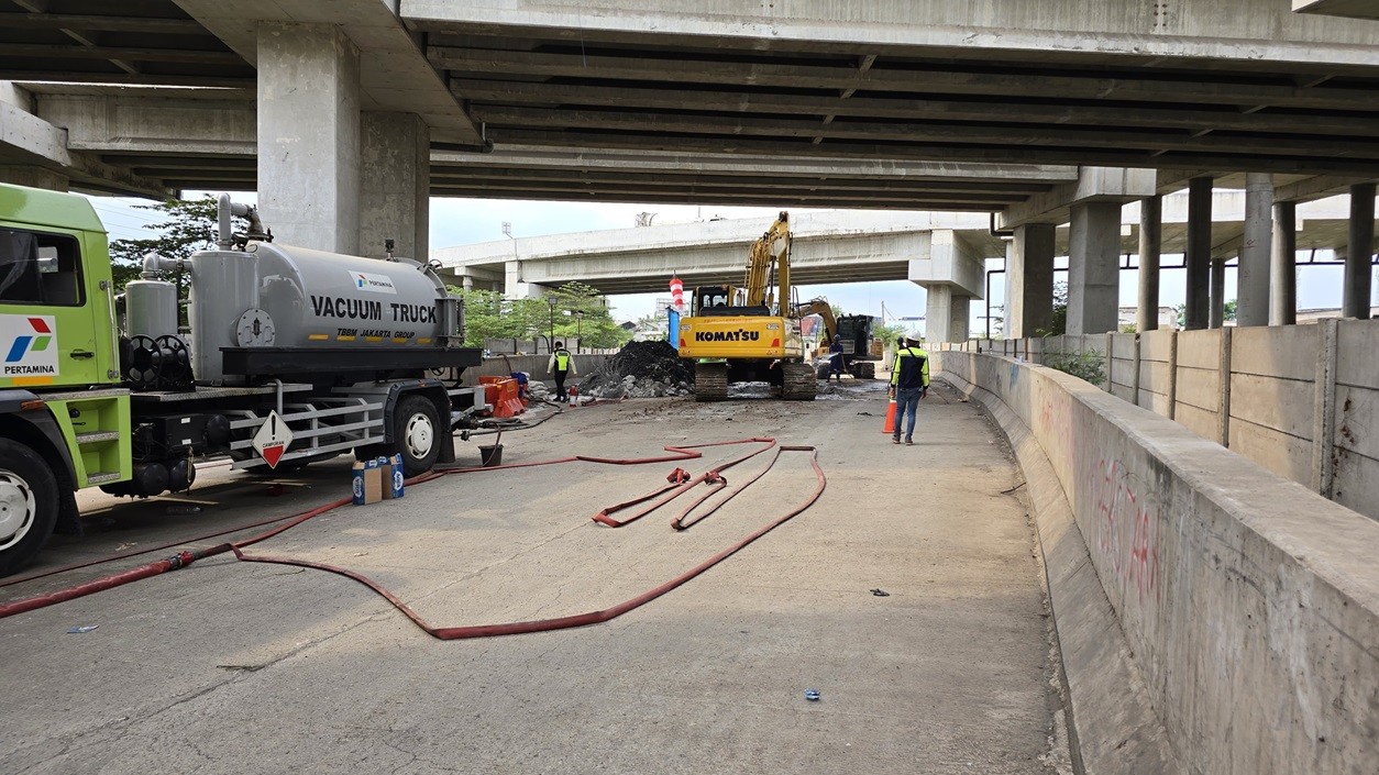
[[[1118,461],[1102,458],[1092,483],[1095,496],[1096,547],[1110,560],[1111,571],[1124,587],[1135,586],[1139,601],[1157,600],[1158,546],[1154,534],[1158,509],[1142,501],[1131,474]],[[1129,532],[1128,550],[1124,534]]]

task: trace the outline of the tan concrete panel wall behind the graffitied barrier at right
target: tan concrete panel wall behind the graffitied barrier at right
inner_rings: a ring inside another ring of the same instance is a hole
[[[971,341],[1045,363],[1092,350],[1111,394],[1379,520],[1379,321]]]

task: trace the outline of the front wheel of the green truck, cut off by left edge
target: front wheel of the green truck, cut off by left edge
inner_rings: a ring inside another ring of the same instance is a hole
[[[58,523],[58,480],[29,447],[0,439],[0,576],[28,565]]]

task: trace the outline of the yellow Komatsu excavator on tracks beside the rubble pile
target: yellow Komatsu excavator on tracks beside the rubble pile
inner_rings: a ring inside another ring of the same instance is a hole
[[[776,291],[779,290],[779,295]],[[695,359],[695,400],[723,401],[731,382],[768,382],[787,401],[811,401],[818,378],[805,361],[790,287],[790,214],[752,244],[742,287],[701,285],[680,321],[680,357]]]

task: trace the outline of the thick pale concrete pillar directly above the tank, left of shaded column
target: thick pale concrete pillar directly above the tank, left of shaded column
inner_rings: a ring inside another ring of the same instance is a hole
[[[258,25],[258,201],[283,243],[359,252],[359,50],[332,25]]]

